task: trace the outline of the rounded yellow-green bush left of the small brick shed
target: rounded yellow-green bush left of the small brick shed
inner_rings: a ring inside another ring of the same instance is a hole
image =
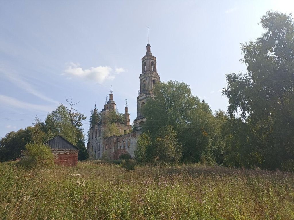
[[[20,161],[21,165],[25,167],[50,167],[54,164],[54,156],[51,149],[44,144],[32,144],[26,145],[28,158]]]

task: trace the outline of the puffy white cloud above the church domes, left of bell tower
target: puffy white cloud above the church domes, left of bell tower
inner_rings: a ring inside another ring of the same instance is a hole
[[[69,66],[66,68],[66,70],[64,70],[64,73],[62,75],[67,75],[67,79],[76,77],[101,84],[107,79],[113,80],[117,74],[120,74],[122,72],[125,72],[125,70],[122,67],[116,68],[115,70],[107,66],[83,69],[82,67],[80,67],[78,63],[71,62]]]

